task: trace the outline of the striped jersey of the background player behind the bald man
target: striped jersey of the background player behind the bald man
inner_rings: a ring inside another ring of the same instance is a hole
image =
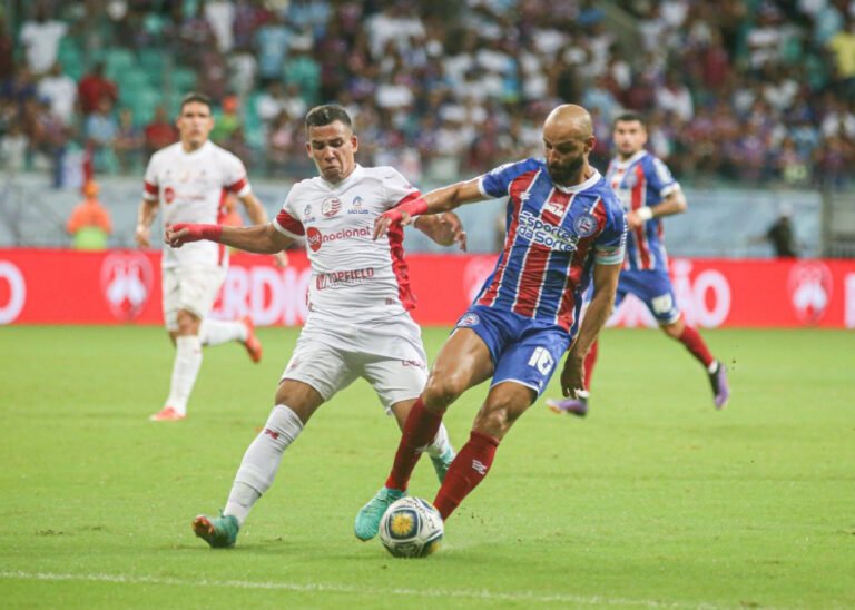
[[[668,166],[647,150],[639,150],[627,160],[615,157],[609,164],[606,179],[627,211],[660,204],[668,194],[680,188]],[[641,227],[629,232],[623,268],[668,272],[665,230],[660,218],[650,218]]]

